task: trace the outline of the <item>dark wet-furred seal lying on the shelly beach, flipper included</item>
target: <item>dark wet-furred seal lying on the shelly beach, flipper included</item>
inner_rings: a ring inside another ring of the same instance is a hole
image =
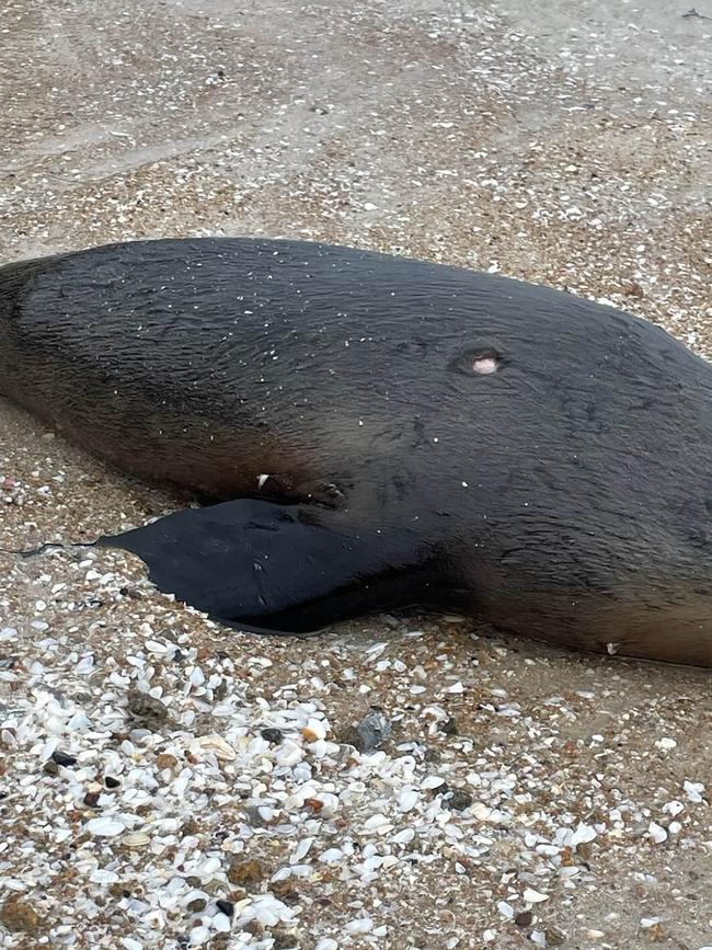
[[[456,610],[712,665],[712,366],[541,286],[328,244],[0,268],[0,392],[211,502],[100,543],[241,628]]]

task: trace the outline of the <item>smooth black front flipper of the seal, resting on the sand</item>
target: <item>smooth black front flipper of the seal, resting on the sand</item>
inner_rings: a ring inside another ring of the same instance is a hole
[[[437,577],[414,536],[348,534],[325,526],[328,516],[241,499],[96,543],[138,554],[161,591],[243,629],[303,633],[359,614],[436,604]]]

